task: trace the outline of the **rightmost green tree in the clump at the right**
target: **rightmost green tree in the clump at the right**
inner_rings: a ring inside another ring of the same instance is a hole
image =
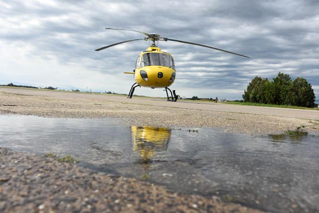
[[[293,93],[295,96],[294,105],[300,107],[313,107],[314,106],[314,92],[312,86],[304,78],[297,77],[293,81]]]

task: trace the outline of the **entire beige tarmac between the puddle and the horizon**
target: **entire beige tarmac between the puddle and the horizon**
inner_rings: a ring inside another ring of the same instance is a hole
[[[250,135],[302,128],[319,131],[319,111],[254,107],[208,101],[0,87],[0,114],[56,118],[119,118],[126,125],[218,128]]]

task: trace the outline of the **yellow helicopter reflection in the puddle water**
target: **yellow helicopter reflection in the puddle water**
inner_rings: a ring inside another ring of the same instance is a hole
[[[131,127],[133,150],[144,164],[147,164],[156,152],[166,151],[171,139],[171,130],[161,127]]]

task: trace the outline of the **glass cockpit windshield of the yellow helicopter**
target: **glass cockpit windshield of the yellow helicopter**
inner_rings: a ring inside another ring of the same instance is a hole
[[[140,62],[140,67],[143,66],[166,66],[175,68],[173,57],[165,53],[144,53]]]

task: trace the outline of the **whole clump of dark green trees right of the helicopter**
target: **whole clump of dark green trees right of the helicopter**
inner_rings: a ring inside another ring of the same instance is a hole
[[[245,102],[313,108],[315,96],[306,79],[297,77],[292,81],[288,74],[279,72],[272,81],[256,76],[244,91],[243,99]]]

